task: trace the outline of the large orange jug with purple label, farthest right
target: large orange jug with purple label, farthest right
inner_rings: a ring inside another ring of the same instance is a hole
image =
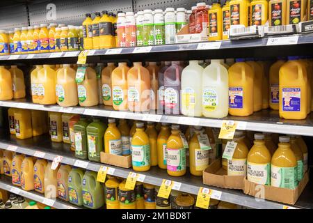
[[[304,119],[307,116],[307,71],[298,56],[289,56],[280,68],[280,117]]]

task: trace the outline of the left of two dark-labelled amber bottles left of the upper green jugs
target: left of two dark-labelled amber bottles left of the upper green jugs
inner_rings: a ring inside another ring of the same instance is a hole
[[[50,117],[51,141],[55,142],[63,141],[62,114],[58,112],[51,112],[49,117]]]

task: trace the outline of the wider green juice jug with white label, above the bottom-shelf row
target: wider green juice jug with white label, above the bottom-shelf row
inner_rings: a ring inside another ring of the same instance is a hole
[[[104,151],[104,132],[106,125],[99,118],[87,126],[88,160],[100,162],[100,152]]]

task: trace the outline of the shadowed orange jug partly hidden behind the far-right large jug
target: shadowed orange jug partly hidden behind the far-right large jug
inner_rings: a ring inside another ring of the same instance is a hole
[[[280,76],[279,76],[279,72],[280,72],[280,67],[285,63],[284,60],[279,59],[278,61],[276,61],[275,63],[273,63],[273,65],[270,68],[270,72],[269,72],[269,84],[270,84],[270,88],[269,88],[269,93],[271,95],[270,99],[269,99],[269,106],[271,107],[271,109],[274,110],[279,110],[279,93],[280,93]]]

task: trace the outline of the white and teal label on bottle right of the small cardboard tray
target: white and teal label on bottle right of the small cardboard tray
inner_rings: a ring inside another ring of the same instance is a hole
[[[150,165],[150,145],[131,145],[131,157],[134,167],[147,167]]]

